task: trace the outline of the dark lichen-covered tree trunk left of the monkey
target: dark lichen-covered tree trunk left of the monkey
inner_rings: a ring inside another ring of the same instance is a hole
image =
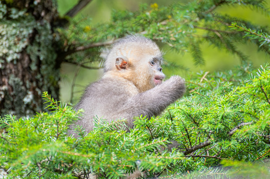
[[[44,90],[58,98],[59,38],[52,28],[58,17],[55,1],[0,1],[1,117],[41,111]]]

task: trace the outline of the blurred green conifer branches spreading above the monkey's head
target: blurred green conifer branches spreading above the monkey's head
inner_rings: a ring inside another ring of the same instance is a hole
[[[262,28],[243,19],[214,11],[217,7],[226,4],[248,6],[269,14],[268,9],[265,8],[265,0],[195,0],[187,4],[175,3],[165,7],[159,7],[154,3],[150,7],[141,4],[140,9],[135,12],[113,11],[111,22],[106,24],[91,25],[90,19],[76,19],[71,21],[68,31],[59,30],[65,36],[67,44],[76,44],[75,46],[87,46],[89,43],[94,44],[118,39],[130,33],[140,33],[166,43],[178,52],[190,52],[195,65],[204,64],[200,50],[200,45],[204,42],[226,49],[238,55],[241,61],[246,61],[248,57],[237,48],[235,42],[247,43],[248,39],[243,38],[242,31],[234,31],[229,26],[232,22],[236,22],[256,31]],[[268,33],[266,28],[263,28],[263,31]],[[260,46],[260,39],[254,38],[252,42]],[[74,47],[66,48],[74,51]],[[89,61],[87,54],[90,52],[92,54],[90,61],[93,61],[98,59],[99,50],[100,46],[90,48],[70,56],[69,60],[81,63],[87,57]],[[269,49],[263,48],[263,50],[270,54]]]

